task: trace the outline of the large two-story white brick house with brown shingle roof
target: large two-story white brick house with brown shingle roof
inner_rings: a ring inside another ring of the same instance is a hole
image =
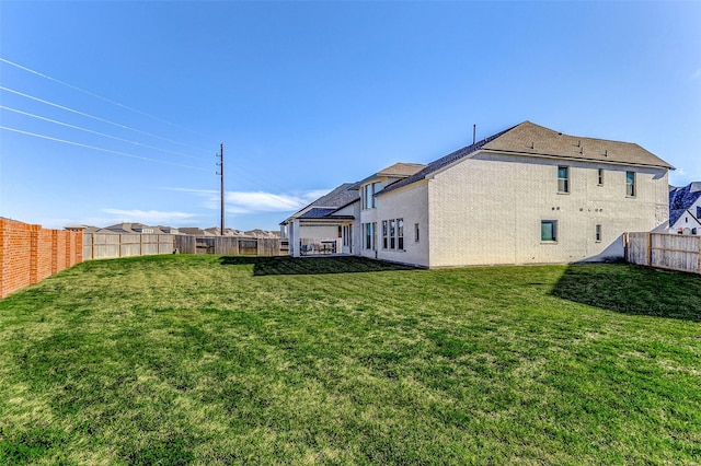
[[[667,162],[530,121],[414,168],[358,183],[348,253],[423,267],[599,260],[669,218]]]

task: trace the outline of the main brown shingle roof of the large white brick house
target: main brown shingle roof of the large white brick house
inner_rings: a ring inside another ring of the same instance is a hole
[[[393,189],[424,179],[445,166],[480,150],[525,156],[597,161],[674,170],[667,162],[635,143],[567,136],[530,121],[524,121],[429,163],[421,172],[393,183],[378,195],[381,196]]]

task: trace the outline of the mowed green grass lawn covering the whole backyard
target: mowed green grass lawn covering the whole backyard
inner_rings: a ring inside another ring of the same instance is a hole
[[[0,464],[699,464],[701,278],[81,264],[0,301]]]

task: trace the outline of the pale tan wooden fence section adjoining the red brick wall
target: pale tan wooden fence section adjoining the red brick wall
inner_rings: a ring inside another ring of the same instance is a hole
[[[83,260],[173,254],[172,234],[83,233]]]

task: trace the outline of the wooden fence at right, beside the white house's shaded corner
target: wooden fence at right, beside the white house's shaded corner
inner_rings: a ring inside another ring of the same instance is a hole
[[[701,236],[627,233],[625,260],[643,266],[701,273]]]

